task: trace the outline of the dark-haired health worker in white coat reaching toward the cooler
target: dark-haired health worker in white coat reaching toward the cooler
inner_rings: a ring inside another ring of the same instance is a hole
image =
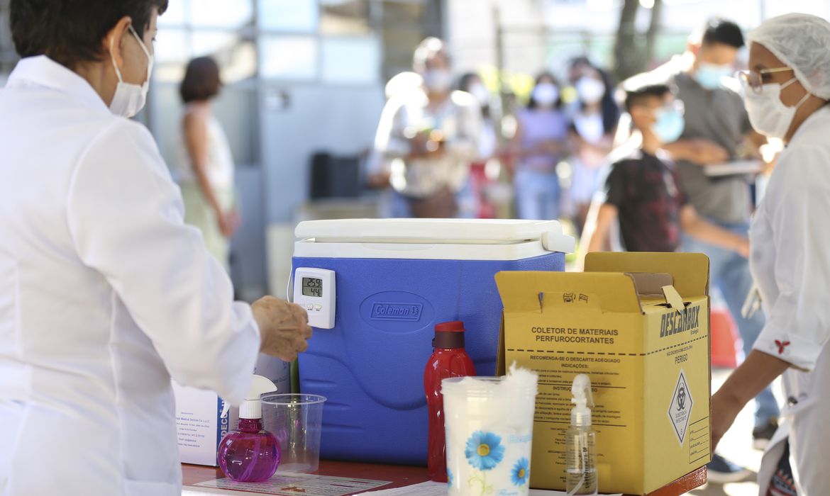
[[[305,311],[232,302],[144,104],[166,0],[12,0],[0,90],[0,495],[179,496],[171,377],[241,402]]]

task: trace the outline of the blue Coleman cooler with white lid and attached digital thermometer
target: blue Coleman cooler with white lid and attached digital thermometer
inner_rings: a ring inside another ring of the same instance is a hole
[[[564,270],[556,221],[302,222],[292,293],[315,328],[300,388],[326,396],[321,456],[426,464],[423,373],[433,326],[461,320],[476,372],[496,372],[501,270]]]

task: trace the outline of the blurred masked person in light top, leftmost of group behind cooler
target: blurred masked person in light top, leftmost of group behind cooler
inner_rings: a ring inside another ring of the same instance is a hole
[[[375,138],[375,151],[390,164],[392,216],[475,216],[469,176],[481,105],[466,91],[452,90],[443,41],[422,41],[413,68],[422,84],[404,85],[389,98]]]

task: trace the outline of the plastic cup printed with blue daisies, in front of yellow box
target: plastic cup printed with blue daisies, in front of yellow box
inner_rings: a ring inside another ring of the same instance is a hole
[[[528,494],[537,378],[525,373],[442,381],[449,494]]]

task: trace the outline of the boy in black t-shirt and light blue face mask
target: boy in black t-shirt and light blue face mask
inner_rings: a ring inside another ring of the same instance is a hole
[[[647,75],[623,83],[625,106],[642,145],[613,163],[602,198],[588,216],[583,246],[603,250],[614,222],[628,251],[676,251],[681,231],[740,255],[749,252],[745,236],[704,220],[688,202],[676,168],[662,150],[684,128],[683,105],[668,85]]]

